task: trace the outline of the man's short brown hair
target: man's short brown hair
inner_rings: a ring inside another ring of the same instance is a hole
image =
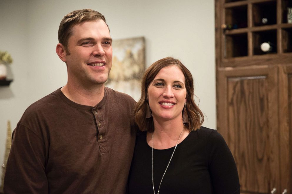
[[[72,35],[72,28],[85,21],[95,21],[100,19],[107,24],[104,16],[98,11],[94,11],[92,9],[79,9],[64,16],[59,26],[58,39],[59,43],[65,47],[67,54],[69,54],[68,40]],[[109,26],[107,25],[107,27]]]

